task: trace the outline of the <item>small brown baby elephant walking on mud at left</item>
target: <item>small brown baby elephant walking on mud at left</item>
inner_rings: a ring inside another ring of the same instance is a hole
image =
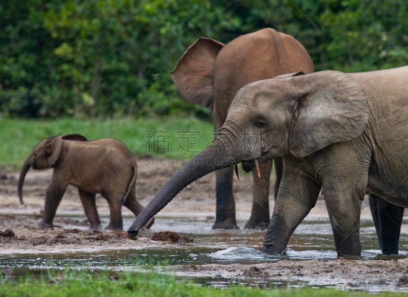
[[[34,147],[25,160],[18,180],[18,195],[22,200],[22,185],[27,171],[54,168],[53,178],[45,195],[41,227],[53,228],[53,219],[68,185],[78,188],[85,214],[92,229],[100,228],[95,194],[100,193],[109,203],[110,222],[106,229],[122,230],[122,205],[136,216],[143,207],[136,201],[137,165],[127,147],[119,140],[106,138],[88,141],[71,134],[50,137]],[[149,228],[153,221],[145,227]]]

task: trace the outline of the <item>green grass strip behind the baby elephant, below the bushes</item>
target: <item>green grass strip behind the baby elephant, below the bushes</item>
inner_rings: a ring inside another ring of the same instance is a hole
[[[0,166],[19,168],[38,142],[60,133],[78,133],[88,139],[117,138],[139,156],[190,159],[211,142],[213,124],[195,117],[109,120],[0,118]]]

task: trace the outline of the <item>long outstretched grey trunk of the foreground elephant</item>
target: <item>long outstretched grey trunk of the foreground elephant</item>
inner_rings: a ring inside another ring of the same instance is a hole
[[[205,151],[194,157],[190,162],[184,165],[180,170],[166,182],[166,184],[157,192],[155,197],[144,207],[136,217],[132,226],[127,230],[130,236],[136,236],[146,224],[146,222],[163,209],[174,196],[183,190],[193,181],[209,174],[212,171],[222,169],[237,163],[236,158],[227,158],[219,152],[219,143],[213,142]]]

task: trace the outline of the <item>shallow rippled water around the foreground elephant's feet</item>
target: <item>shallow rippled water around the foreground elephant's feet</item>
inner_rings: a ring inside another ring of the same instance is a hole
[[[130,226],[133,218],[126,219],[124,226]],[[239,222],[240,226],[244,221]],[[406,224],[406,222],[404,222]],[[286,255],[269,256],[263,254],[262,241],[265,231],[254,230],[212,230],[212,221],[187,218],[156,218],[151,234],[159,231],[176,231],[194,238],[194,242],[174,244],[174,247],[155,249],[129,249],[100,251],[92,253],[61,253],[52,256],[47,254],[8,255],[0,257],[0,270],[12,268],[16,276],[25,276],[28,272],[40,273],[48,268],[64,269],[126,269],[137,265],[139,268],[151,265],[176,264],[211,264],[211,263],[260,263],[287,260],[321,260],[337,258],[333,233],[328,221],[303,221],[292,235]],[[375,228],[372,221],[362,221],[361,229],[362,255],[356,259],[390,259],[380,256]],[[400,255],[408,256],[408,234],[401,232]],[[200,279],[199,283],[222,285],[231,280]],[[265,285],[265,284],[264,284]],[[284,284],[281,284],[284,285]]]

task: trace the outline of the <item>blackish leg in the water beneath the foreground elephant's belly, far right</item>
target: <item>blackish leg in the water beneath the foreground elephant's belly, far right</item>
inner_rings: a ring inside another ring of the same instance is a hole
[[[397,255],[404,208],[369,195],[371,215],[383,255]]]

